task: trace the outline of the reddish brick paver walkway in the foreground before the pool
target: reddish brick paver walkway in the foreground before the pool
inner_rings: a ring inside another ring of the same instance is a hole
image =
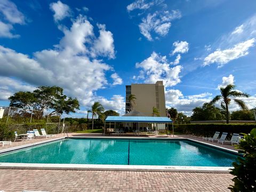
[[[0,190],[230,191],[232,178],[224,173],[0,170]]]

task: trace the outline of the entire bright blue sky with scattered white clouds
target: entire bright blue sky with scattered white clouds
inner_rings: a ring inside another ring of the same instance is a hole
[[[124,113],[125,85],[164,81],[166,107],[187,115],[235,84],[256,106],[255,1],[0,2],[0,105],[58,85]],[[238,107],[231,103],[231,110]]]

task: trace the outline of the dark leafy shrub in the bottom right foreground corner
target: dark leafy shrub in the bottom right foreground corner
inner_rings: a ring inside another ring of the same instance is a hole
[[[236,177],[232,179],[234,186],[231,185],[229,189],[233,192],[256,191],[256,129],[250,134],[244,134],[237,148],[238,153],[244,156],[238,157],[238,163],[233,163],[234,169],[230,173]]]

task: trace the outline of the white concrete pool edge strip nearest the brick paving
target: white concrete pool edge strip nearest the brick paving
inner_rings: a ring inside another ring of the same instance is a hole
[[[0,169],[229,173],[233,167],[0,163]]]

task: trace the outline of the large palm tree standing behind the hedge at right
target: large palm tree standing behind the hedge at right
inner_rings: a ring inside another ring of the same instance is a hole
[[[227,85],[226,87],[221,87],[220,88],[220,95],[217,95],[213,98],[213,100],[210,102],[211,105],[213,105],[215,102],[222,100],[221,101],[221,108],[226,111],[226,120],[227,123],[229,123],[229,111],[228,111],[228,105],[230,104],[231,98],[242,98],[242,97],[250,97],[249,94],[247,93],[242,93],[239,91],[235,91],[235,85]],[[244,101],[241,99],[233,99],[235,103],[241,107],[243,110],[248,109],[247,106],[245,105]]]

